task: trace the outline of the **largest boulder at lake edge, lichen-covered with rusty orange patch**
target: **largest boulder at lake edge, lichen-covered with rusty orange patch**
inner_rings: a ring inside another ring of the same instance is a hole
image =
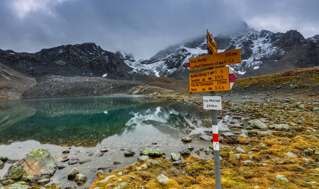
[[[5,179],[33,182],[53,176],[58,164],[48,149],[33,149],[18,162],[11,165]]]

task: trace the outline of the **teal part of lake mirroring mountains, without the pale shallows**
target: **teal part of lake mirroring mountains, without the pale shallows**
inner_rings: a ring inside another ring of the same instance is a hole
[[[99,96],[0,101],[0,144],[35,140],[42,144],[93,147],[135,127],[163,134],[202,127],[197,107],[163,98]]]

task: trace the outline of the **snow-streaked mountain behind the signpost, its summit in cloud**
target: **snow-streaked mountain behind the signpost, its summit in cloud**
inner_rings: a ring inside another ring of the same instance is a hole
[[[250,30],[214,36],[214,40],[218,52],[241,49],[242,63],[231,65],[240,78],[319,65],[319,35],[305,39],[295,30],[286,33]],[[149,73],[156,76],[187,80],[190,71],[185,68],[185,63],[189,58],[207,55],[206,45],[203,36],[167,47],[149,60],[137,62],[139,66],[144,65],[144,71],[149,68]],[[130,66],[129,62],[125,63]]]

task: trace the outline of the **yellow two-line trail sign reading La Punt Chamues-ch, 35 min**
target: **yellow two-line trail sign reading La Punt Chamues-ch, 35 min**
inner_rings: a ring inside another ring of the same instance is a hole
[[[240,49],[189,59],[189,69],[203,69],[241,63]]]

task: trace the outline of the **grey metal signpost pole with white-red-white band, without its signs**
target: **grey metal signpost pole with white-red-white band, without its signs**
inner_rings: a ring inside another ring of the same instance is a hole
[[[207,50],[207,54],[213,54],[210,49]],[[215,69],[210,68],[210,69]],[[216,91],[211,91],[210,96],[216,96]],[[215,186],[216,189],[221,189],[221,174],[220,174],[220,158],[219,158],[219,139],[218,139],[218,120],[217,110],[211,110],[211,125],[213,129],[213,148],[214,148],[214,165],[215,165]]]

